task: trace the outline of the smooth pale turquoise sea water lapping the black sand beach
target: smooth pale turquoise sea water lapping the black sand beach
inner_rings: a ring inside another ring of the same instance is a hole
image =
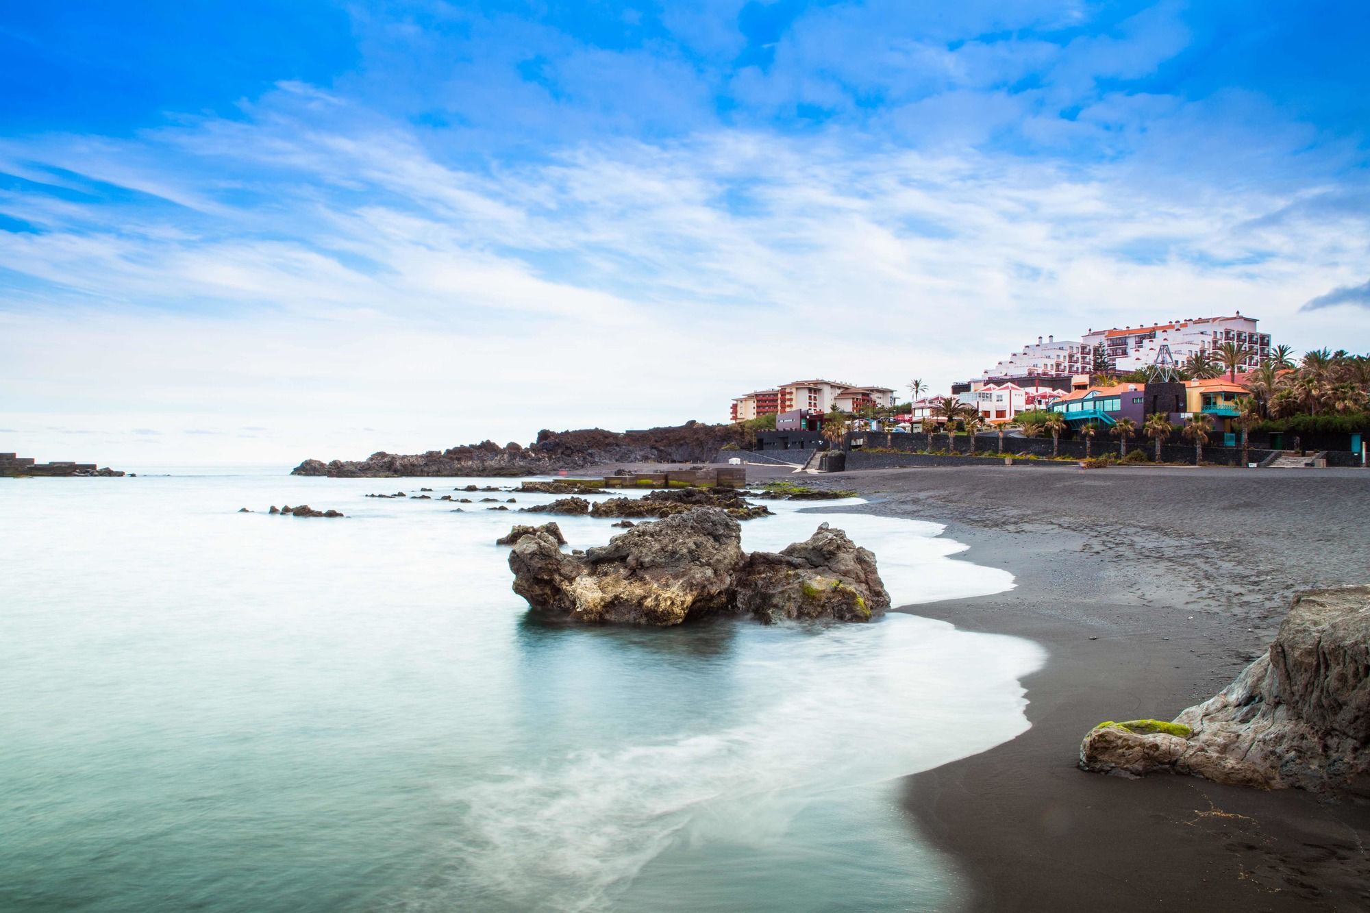
[[[0,480],[0,909],[955,897],[897,777],[1026,729],[1033,644],[912,616],[547,626],[493,544],[516,514],[364,498],[485,480],[197,472]],[[301,502],[348,518],[234,513]],[[774,509],[744,547],[829,520],[896,603],[1011,587],[933,524]]]

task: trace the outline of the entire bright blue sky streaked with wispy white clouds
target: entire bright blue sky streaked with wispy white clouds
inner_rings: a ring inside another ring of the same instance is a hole
[[[0,451],[726,421],[1238,310],[1366,351],[1367,40],[1349,0],[10,4]]]

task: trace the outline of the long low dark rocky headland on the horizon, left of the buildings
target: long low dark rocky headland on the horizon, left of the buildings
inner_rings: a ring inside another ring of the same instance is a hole
[[[293,476],[543,476],[559,470],[582,469],[596,463],[630,462],[711,462],[729,443],[740,443],[732,425],[685,422],[670,428],[608,432],[599,428],[582,430],[541,430],[527,447],[508,443],[500,447],[486,440],[480,444],[430,450],[423,454],[371,454],[362,461],[334,459],[325,463],[306,459]],[[560,492],[558,492],[560,494]],[[570,492],[575,494],[575,492]]]

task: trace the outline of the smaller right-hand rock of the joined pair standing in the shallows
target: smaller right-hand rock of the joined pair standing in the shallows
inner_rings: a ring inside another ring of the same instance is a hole
[[[767,624],[782,618],[870,621],[888,607],[875,555],[827,524],[780,554],[748,555],[737,587],[738,611]]]

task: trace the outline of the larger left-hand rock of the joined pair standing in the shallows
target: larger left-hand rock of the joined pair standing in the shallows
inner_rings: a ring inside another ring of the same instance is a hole
[[[544,532],[510,552],[514,592],[570,621],[677,625],[733,607],[744,561],[737,521],[703,507],[634,526],[584,555]]]

